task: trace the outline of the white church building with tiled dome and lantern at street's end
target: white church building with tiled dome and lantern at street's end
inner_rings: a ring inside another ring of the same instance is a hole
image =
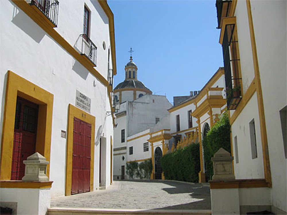
[[[127,179],[127,162],[151,158],[151,146],[147,146],[150,128],[166,121],[167,109],[172,105],[166,96],[152,95],[137,80],[137,66],[132,57],[125,66],[125,80],[115,87],[114,94],[120,106],[115,114],[113,175],[114,179]]]

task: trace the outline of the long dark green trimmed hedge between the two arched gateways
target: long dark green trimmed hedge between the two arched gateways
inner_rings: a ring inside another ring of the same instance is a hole
[[[164,155],[161,160],[162,171],[167,180],[198,182],[200,171],[199,143]]]

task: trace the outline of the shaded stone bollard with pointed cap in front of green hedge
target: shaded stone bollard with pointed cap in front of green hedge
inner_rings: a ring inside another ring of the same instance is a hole
[[[235,180],[232,171],[233,156],[223,148],[220,148],[211,158],[213,162],[213,181],[229,181]]]

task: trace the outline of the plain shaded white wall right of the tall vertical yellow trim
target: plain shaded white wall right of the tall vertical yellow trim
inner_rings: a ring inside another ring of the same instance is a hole
[[[251,1],[272,176],[272,203],[287,212],[287,159],[279,111],[287,105],[286,1]],[[266,16],[268,14],[268,16]],[[266,42],[268,41],[268,42]]]

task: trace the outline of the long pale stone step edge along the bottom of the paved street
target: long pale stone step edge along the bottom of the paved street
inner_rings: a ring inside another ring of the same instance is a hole
[[[47,215],[126,215],[126,214],[137,214],[137,215],[211,215],[211,210],[163,210],[163,209],[102,209],[102,208],[49,208]]]

